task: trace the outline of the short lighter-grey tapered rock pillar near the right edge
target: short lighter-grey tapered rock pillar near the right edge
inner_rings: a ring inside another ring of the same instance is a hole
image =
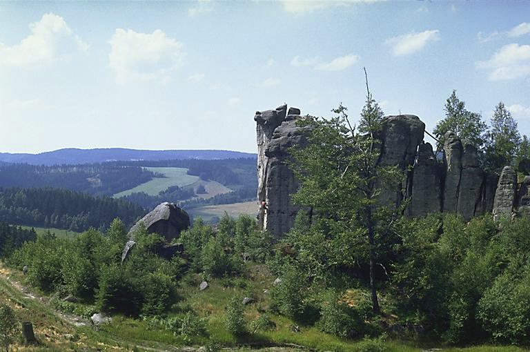
[[[517,174],[511,166],[504,166],[500,173],[495,200],[493,201],[493,218],[510,217],[516,206]]]

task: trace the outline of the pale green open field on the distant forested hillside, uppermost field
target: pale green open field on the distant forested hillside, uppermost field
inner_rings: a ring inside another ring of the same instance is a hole
[[[155,177],[150,181],[140,184],[135,188],[124,190],[123,192],[116,193],[113,195],[115,198],[124,197],[131,193],[145,192],[148,195],[158,195],[161,190],[166,190],[170,186],[189,186],[199,181],[198,176],[188,175],[187,168],[145,168],[146,170],[153,171],[153,173],[161,173],[166,177]]]

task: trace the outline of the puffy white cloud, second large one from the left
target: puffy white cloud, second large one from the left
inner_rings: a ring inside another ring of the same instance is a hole
[[[148,34],[117,28],[109,43],[108,63],[121,83],[129,79],[166,80],[184,59],[182,44],[161,30]]]

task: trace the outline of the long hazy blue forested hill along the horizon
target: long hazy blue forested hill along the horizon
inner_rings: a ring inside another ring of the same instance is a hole
[[[32,165],[88,164],[108,161],[168,159],[237,159],[256,157],[253,153],[231,150],[137,150],[126,148],[66,148],[39,154],[0,153],[0,162]]]

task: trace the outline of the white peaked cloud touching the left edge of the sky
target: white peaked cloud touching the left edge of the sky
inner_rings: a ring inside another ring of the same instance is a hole
[[[31,34],[14,46],[0,43],[0,66],[32,66],[66,59],[75,50],[88,50],[88,44],[74,35],[57,14],[44,14],[30,24]]]

